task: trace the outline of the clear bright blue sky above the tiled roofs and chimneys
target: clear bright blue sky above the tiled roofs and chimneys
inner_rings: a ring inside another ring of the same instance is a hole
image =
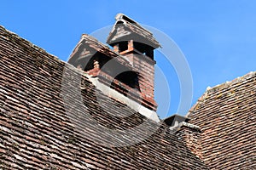
[[[114,23],[124,13],[140,24],[163,31],[176,42],[193,76],[192,104],[208,86],[255,71],[256,1],[166,0],[166,1],[2,1],[0,25],[67,61],[82,33],[91,33]],[[171,107],[177,112],[179,82],[172,65],[156,53],[155,59],[167,77]],[[166,88],[157,82],[159,115],[166,116]],[[180,114],[184,115],[186,111]]]

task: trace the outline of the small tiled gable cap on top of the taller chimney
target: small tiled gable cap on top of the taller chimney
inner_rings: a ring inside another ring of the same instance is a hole
[[[144,29],[136,21],[131,20],[131,18],[125,14],[117,14],[115,20],[116,22],[113,25],[113,29],[110,31],[107,38],[108,44],[124,41],[125,37],[129,36],[133,37],[136,42],[143,42],[154,48],[160,47],[160,43],[153,37],[153,34],[150,31]],[[122,34],[119,34],[118,31],[120,27],[125,27],[125,31],[122,32]]]

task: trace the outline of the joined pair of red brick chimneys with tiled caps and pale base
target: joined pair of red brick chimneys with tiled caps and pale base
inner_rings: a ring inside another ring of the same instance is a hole
[[[142,112],[148,112],[148,115],[154,115],[153,119],[159,120],[154,101],[154,49],[160,47],[159,42],[134,20],[117,14],[107,43],[113,49],[83,34],[68,63],[129,98],[127,105],[135,101],[146,108]],[[117,99],[119,94],[112,97]],[[123,97],[119,100],[124,102]]]

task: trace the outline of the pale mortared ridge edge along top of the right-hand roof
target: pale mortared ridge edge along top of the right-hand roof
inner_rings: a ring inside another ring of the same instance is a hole
[[[201,95],[201,97],[199,99],[197,99],[197,101],[195,102],[195,105],[193,105],[190,110],[188,111],[186,117],[189,117],[189,115],[195,112],[195,110],[198,108],[198,106],[207,98],[207,95],[211,92],[216,92],[218,90],[221,90],[223,88],[229,87],[230,85],[236,83],[236,82],[241,82],[244,81],[246,79],[249,79],[251,77],[256,76],[256,71],[250,71],[248,72],[246,75],[242,76],[242,77],[236,77],[235,79],[233,79],[232,81],[227,81],[221,84],[218,84],[214,87],[207,87],[207,90],[204,92],[204,94]]]

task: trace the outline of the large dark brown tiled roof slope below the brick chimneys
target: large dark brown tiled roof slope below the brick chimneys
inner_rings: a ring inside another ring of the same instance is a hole
[[[1,26],[0,68],[0,168],[206,169],[164,124],[109,99],[83,72]],[[61,88],[65,70],[71,82]],[[148,129],[135,128],[137,137],[154,133],[134,144],[123,132],[141,124]]]

